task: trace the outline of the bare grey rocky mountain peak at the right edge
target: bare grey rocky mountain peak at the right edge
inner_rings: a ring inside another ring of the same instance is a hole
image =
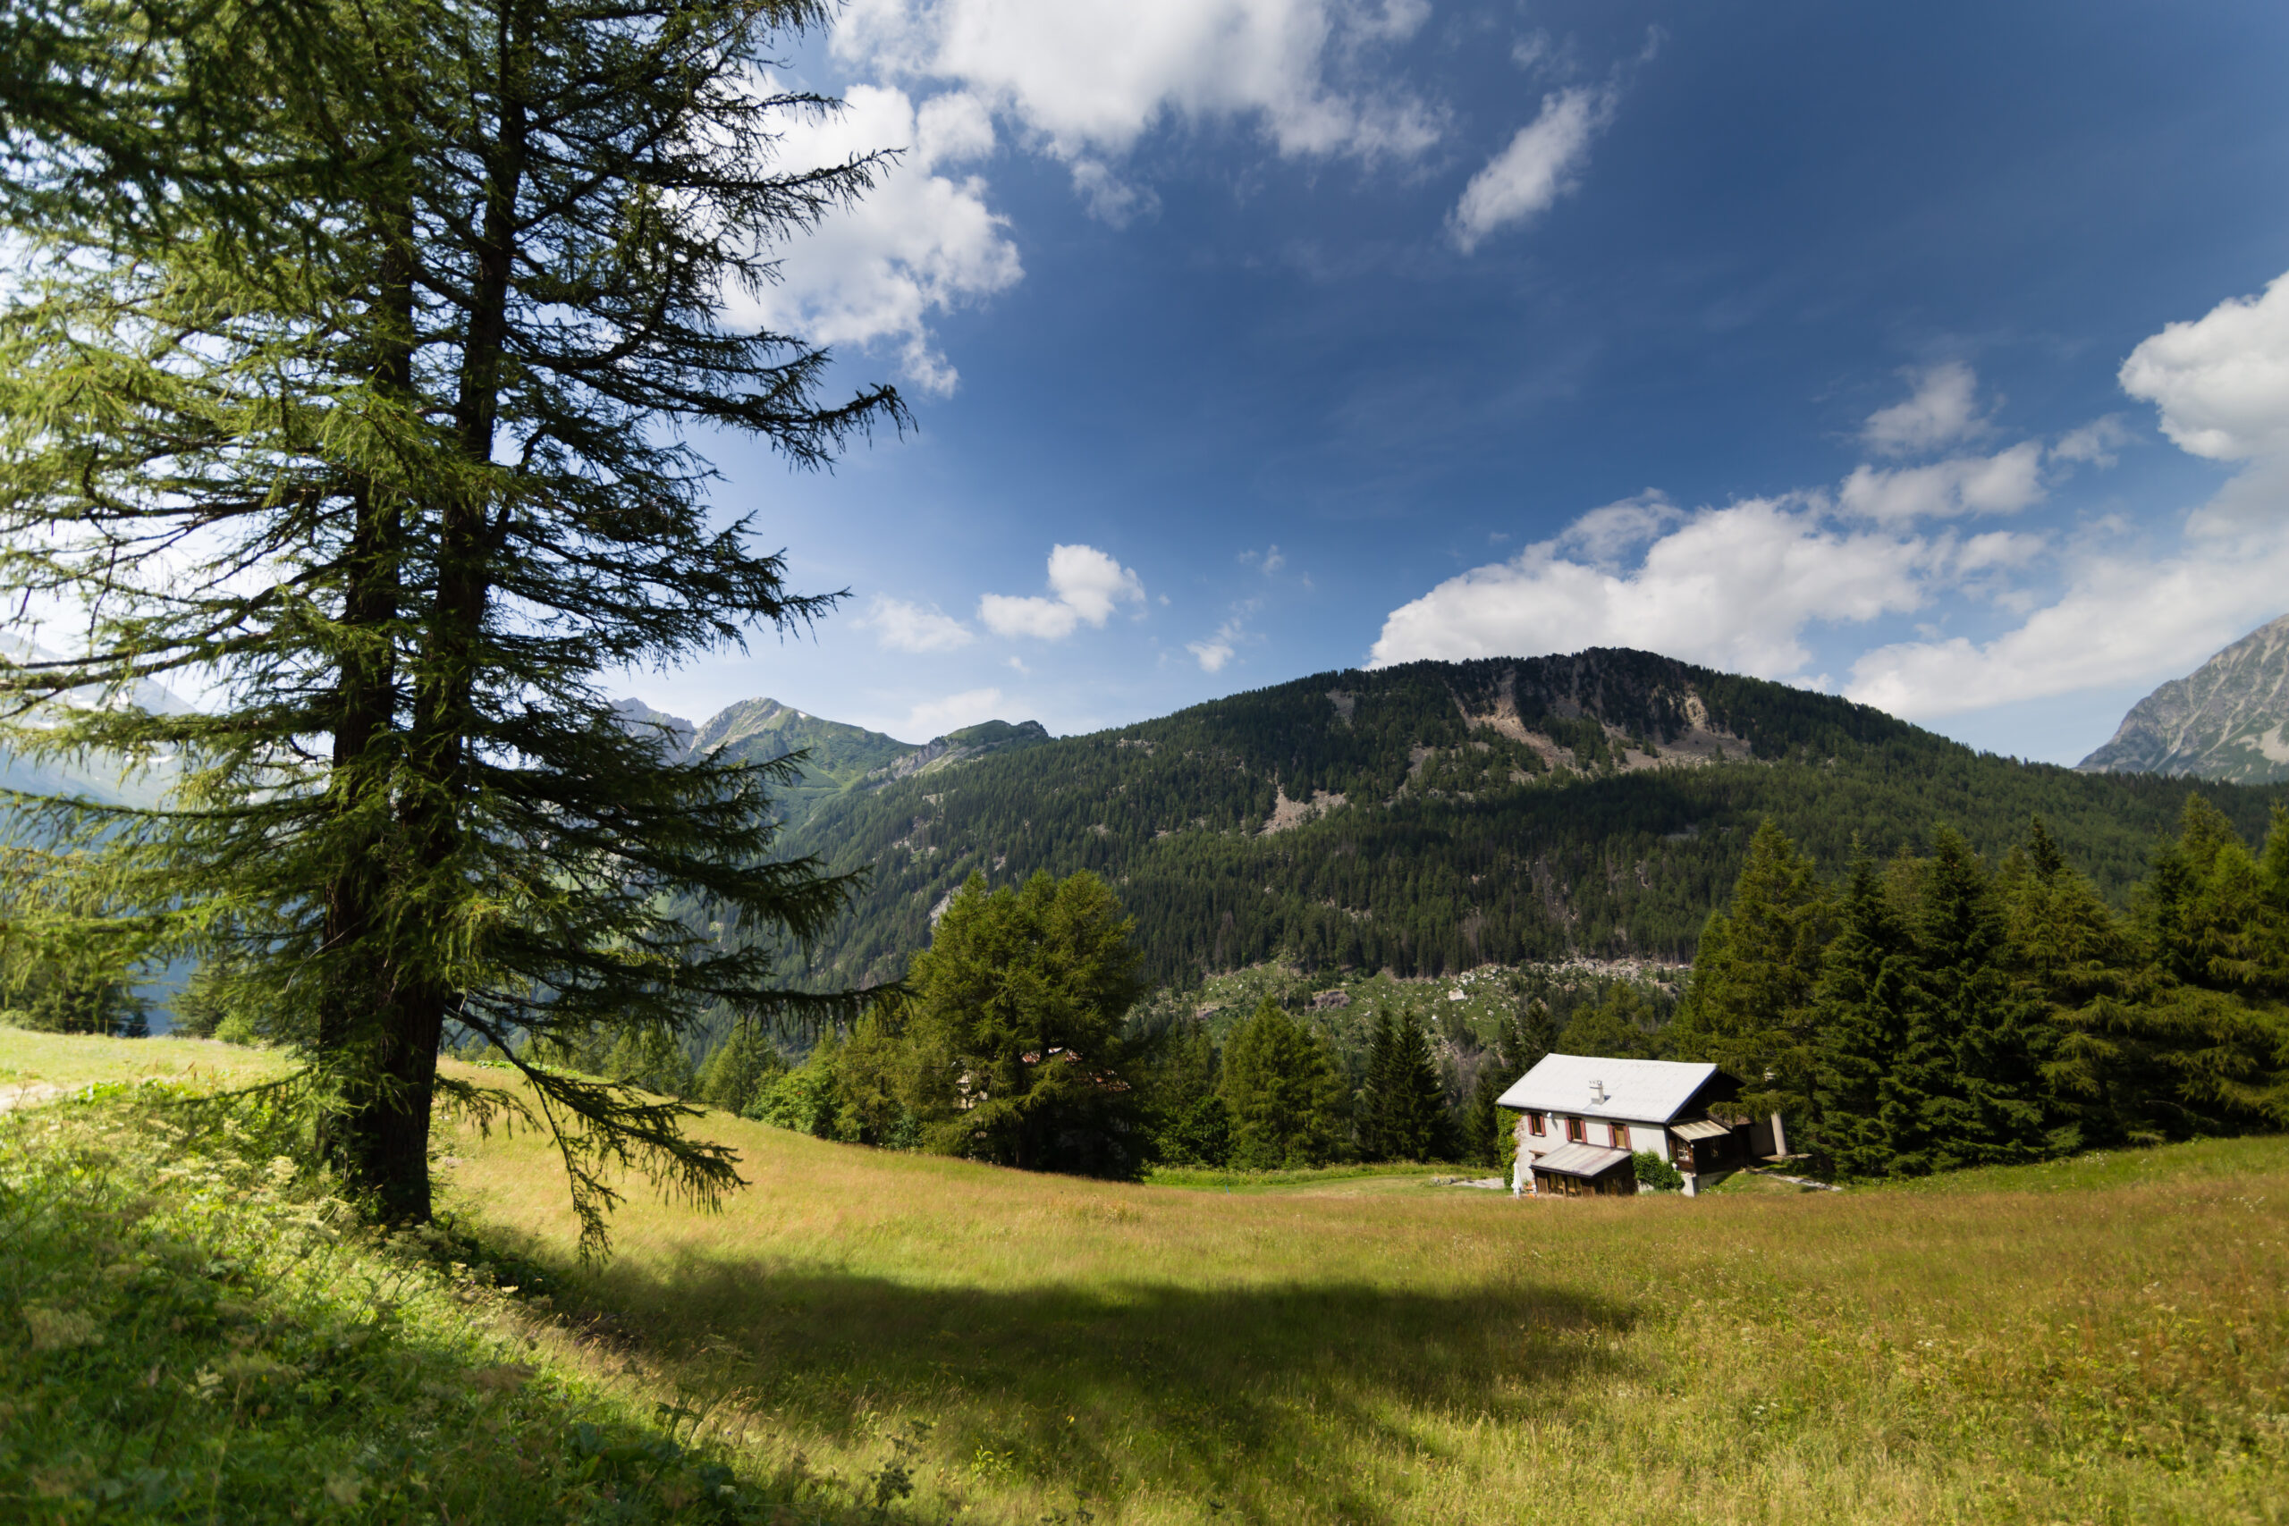
[[[2289,615],[2225,647],[2131,707],[2085,773],[2289,780]]]

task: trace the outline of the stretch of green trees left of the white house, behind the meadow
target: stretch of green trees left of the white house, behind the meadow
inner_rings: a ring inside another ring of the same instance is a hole
[[[1135,917],[1085,869],[1000,890],[973,876],[904,988],[849,1030],[810,1041],[726,1023],[696,1057],[597,1030],[536,1057],[822,1139],[1030,1169],[1506,1169],[1499,1091],[1561,1039],[1653,1011],[1616,981],[1563,1025],[1547,1000],[1520,998],[1481,1036],[1405,1002],[1337,1027],[1291,991],[1218,1036],[1199,1016],[1147,1011],[1133,936]]]

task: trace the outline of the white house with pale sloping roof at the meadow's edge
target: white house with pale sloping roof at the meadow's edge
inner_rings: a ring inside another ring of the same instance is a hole
[[[1632,1153],[1650,1151],[1685,1176],[1685,1192],[1710,1171],[1756,1155],[1781,1155],[1781,1119],[1749,1123],[1710,1116],[1740,1089],[1710,1064],[1547,1055],[1497,1103],[1515,1110],[1518,1165],[1511,1190],[1536,1197],[1634,1194]]]

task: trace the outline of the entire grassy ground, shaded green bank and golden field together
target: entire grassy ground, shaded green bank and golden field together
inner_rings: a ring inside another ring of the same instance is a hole
[[[0,1084],[192,1062],[272,1064],[0,1032]],[[1536,1203],[712,1114],[753,1185],[632,1183],[584,1270],[531,1135],[439,1128],[423,1256],[135,1096],[0,1116],[5,1519],[2289,1517],[2282,1139]]]

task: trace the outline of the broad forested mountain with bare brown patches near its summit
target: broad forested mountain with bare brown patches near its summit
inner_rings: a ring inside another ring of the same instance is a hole
[[[1996,853],[2044,814],[2124,899],[2184,780],[1973,753],[1877,709],[1655,657],[1323,673],[1092,737],[815,798],[783,847],[872,881],[819,979],[895,979],[971,872],[1094,869],[1147,975],[1266,959],[1440,975],[1687,959],[1763,817],[1840,869],[1953,824]],[[2271,794],[2200,785],[2250,837]]]

